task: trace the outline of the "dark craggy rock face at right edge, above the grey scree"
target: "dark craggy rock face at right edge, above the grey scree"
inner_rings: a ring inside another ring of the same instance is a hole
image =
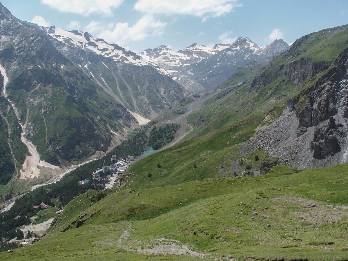
[[[296,111],[297,135],[302,135],[308,127],[317,126],[311,143],[315,159],[325,159],[334,155],[341,151],[341,145],[346,143],[347,68],[348,48],[340,54],[332,69],[302,93],[307,95],[305,97],[308,101],[303,109]]]

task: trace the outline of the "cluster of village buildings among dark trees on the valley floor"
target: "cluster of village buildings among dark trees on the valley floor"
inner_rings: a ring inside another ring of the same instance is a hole
[[[96,171],[93,172],[93,177],[92,177],[92,180],[94,181],[93,183],[90,183],[90,180],[88,179],[79,181],[79,183],[90,184],[92,185],[92,187],[96,189],[104,190],[105,184],[110,183],[114,175],[116,175],[115,181],[118,180],[118,175],[124,173],[127,169],[126,163],[131,161],[134,161],[134,156],[128,156],[126,160],[121,159],[118,161],[116,159],[116,155],[112,155],[111,165],[97,168]],[[98,183],[96,184],[96,182]]]

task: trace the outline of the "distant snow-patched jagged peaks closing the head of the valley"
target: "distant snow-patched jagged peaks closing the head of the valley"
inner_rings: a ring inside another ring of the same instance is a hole
[[[208,48],[193,44],[174,52],[166,46],[144,50],[145,60],[158,64],[188,90],[214,88],[227,80],[238,68],[251,61],[264,60],[287,50],[283,40],[260,47],[248,38],[239,37],[233,44]]]

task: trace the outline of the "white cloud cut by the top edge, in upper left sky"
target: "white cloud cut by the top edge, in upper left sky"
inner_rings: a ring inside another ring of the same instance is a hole
[[[41,0],[41,3],[63,13],[88,16],[92,13],[112,14],[112,9],[121,5],[123,0]]]

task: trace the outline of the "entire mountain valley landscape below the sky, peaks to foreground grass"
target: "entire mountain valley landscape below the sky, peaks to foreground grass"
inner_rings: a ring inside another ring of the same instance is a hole
[[[347,259],[348,25],[135,54],[0,19],[0,259]]]

